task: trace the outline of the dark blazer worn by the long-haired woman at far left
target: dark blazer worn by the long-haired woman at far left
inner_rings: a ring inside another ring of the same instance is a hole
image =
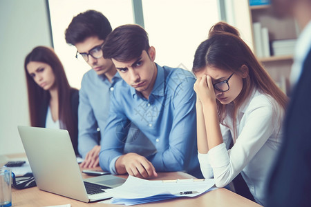
[[[49,100],[47,99],[46,102],[41,106],[41,108],[39,109],[39,115],[40,115],[40,123],[39,123],[39,127],[46,127],[46,113],[48,112],[48,103]],[[77,130],[77,109],[78,109],[78,105],[79,105],[79,90],[75,89],[75,88],[71,88],[70,89],[70,108],[71,108],[71,113],[73,115],[73,121],[74,121],[74,126],[75,126],[75,130],[73,135],[70,135],[70,139],[71,142],[73,144],[73,149],[75,150],[75,154],[79,155],[79,152],[77,150],[77,134],[78,134],[78,130]]]

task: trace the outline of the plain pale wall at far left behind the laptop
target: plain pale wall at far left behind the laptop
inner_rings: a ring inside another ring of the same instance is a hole
[[[18,125],[30,125],[23,61],[51,46],[44,0],[0,0],[0,155],[24,152]]]

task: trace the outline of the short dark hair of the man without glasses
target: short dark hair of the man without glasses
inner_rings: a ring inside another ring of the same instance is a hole
[[[105,59],[125,62],[140,57],[143,50],[148,53],[149,48],[148,34],[144,28],[126,24],[115,28],[108,35],[102,50]]]

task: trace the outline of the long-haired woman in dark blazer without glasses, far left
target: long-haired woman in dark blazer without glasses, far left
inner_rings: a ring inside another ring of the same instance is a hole
[[[25,59],[31,126],[69,132],[77,152],[79,91],[69,86],[64,67],[52,48],[38,46]]]

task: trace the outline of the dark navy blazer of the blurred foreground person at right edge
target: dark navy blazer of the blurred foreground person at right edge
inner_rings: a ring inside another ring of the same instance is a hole
[[[292,92],[267,206],[311,206],[311,50]]]

